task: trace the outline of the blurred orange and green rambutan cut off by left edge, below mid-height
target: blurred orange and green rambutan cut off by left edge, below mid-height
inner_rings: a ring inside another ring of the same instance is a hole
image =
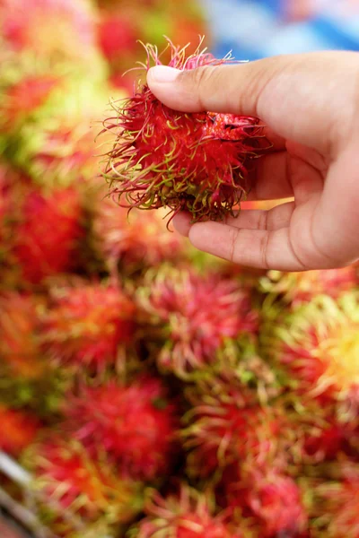
[[[0,295],[0,397],[40,417],[54,416],[71,379],[41,349],[46,299],[7,291]]]

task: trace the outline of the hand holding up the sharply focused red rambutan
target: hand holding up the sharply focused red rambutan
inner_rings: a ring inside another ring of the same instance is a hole
[[[359,258],[359,54],[275,56],[179,72],[149,70],[154,95],[184,112],[259,117],[273,151],[258,160],[250,199],[293,197],[269,211],[174,226],[200,250],[241,265],[328,269]]]

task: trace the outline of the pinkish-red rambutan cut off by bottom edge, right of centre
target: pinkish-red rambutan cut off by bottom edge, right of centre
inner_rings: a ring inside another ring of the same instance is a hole
[[[292,478],[276,469],[268,468],[263,473],[253,466],[242,479],[231,467],[223,477],[222,488],[233,519],[254,519],[261,538],[300,538],[308,528],[301,490]]]

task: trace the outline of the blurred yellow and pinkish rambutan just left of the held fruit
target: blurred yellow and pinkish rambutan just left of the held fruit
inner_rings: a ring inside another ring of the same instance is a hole
[[[45,189],[74,184],[89,187],[99,175],[98,153],[102,151],[92,127],[103,117],[108,91],[101,73],[85,80],[80,74],[63,77],[37,111],[36,123],[27,122],[16,131],[14,164]],[[105,136],[102,143],[107,143]]]

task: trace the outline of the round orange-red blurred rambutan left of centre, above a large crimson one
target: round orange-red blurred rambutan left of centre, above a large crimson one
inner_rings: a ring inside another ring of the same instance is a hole
[[[116,284],[78,283],[50,290],[42,320],[44,349],[76,369],[103,370],[133,341],[135,305]]]

